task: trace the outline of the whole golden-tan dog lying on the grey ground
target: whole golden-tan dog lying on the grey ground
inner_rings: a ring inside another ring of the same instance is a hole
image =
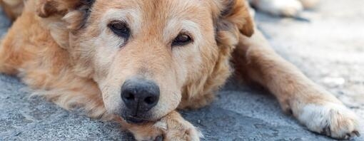
[[[308,130],[359,136],[358,116],[278,56],[248,9],[243,0],[24,1],[1,40],[0,72],[136,140],[200,140],[177,110],[208,105],[231,75],[270,90]]]

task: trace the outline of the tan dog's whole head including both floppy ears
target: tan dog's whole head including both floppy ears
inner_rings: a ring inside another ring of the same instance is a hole
[[[38,12],[69,23],[75,71],[98,83],[108,112],[143,122],[228,71],[238,36],[253,33],[247,9],[242,0],[54,0]]]

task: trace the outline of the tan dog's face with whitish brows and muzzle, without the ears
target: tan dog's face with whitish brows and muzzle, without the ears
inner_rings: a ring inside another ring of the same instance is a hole
[[[96,1],[81,44],[92,48],[106,108],[126,120],[175,110],[189,75],[213,58],[213,21],[204,2]],[[211,48],[211,49],[208,49]]]

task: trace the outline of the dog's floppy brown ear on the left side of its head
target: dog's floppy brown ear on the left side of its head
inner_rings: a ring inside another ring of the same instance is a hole
[[[38,0],[36,14],[49,28],[61,48],[69,48],[70,33],[86,23],[89,9],[95,0]]]

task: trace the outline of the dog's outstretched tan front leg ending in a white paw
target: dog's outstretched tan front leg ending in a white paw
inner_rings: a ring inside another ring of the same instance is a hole
[[[236,73],[268,88],[309,130],[340,139],[359,135],[357,115],[278,56],[258,30],[251,38],[241,36],[233,62]]]

